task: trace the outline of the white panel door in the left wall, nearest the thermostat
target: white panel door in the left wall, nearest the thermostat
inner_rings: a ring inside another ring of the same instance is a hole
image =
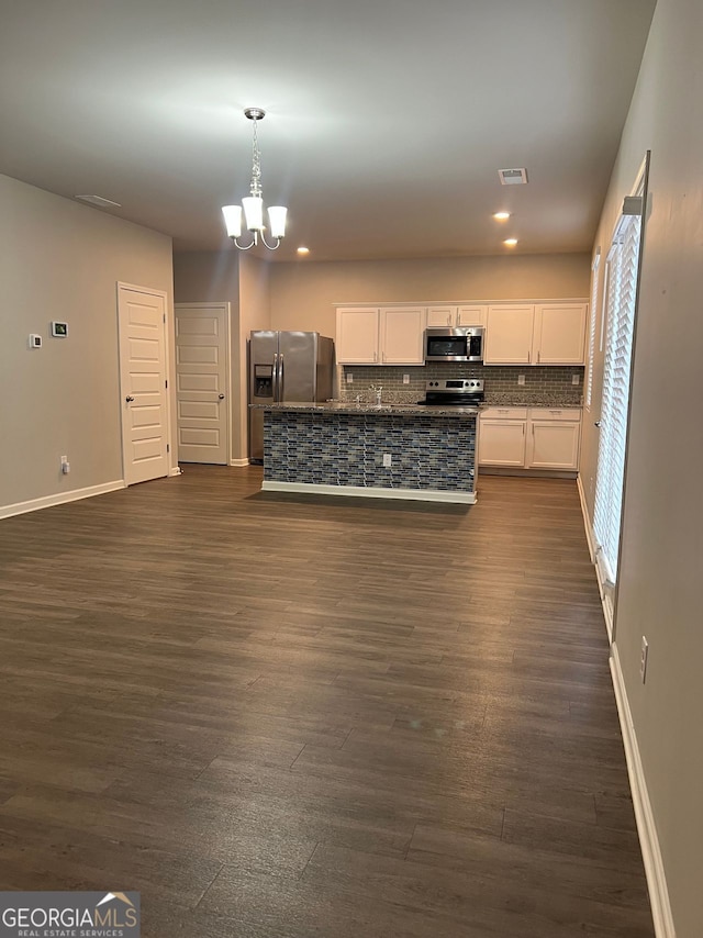
[[[119,284],[122,465],[127,485],[168,474],[166,294]]]

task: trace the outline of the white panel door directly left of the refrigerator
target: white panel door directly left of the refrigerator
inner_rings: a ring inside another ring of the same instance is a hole
[[[227,306],[175,306],[179,462],[227,464]]]

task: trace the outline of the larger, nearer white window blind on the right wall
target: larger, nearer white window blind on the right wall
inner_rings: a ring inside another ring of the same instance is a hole
[[[620,550],[640,228],[640,215],[623,215],[607,258],[605,359],[593,529],[600,559],[613,583]]]

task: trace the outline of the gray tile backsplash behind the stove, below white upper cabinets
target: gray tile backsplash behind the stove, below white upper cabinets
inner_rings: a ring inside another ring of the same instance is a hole
[[[583,366],[513,366],[476,365],[455,362],[453,365],[428,362],[427,365],[344,365],[339,371],[339,399],[354,401],[360,395],[362,401],[372,401],[371,384],[380,384],[383,400],[390,402],[420,401],[425,394],[425,382],[446,378],[483,378],[487,401],[511,399],[515,402],[538,402],[545,399],[559,400],[563,404],[580,406],[583,394]],[[347,375],[354,378],[347,383]],[[410,383],[403,384],[403,375],[410,376]],[[517,376],[525,376],[525,383],[517,383]],[[579,383],[572,383],[572,376],[579,376]]]

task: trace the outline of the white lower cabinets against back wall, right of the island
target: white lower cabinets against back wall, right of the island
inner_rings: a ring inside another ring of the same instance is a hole
[[[487,407],[479,418],[479,465],[515,469],[579,467],[579,407]]]

